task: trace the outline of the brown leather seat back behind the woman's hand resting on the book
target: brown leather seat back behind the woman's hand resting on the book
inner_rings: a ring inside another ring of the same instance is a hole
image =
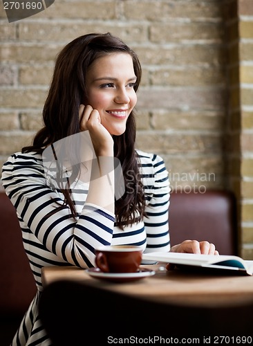
[[[185,239],[207,240],[221,255],[238,255],[234,194],[220,190],[172,192],[169,231],[171,245]]]

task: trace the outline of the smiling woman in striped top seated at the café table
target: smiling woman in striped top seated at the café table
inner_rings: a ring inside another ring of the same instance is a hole
[[[140,78],[137,55],[117,37],[77,37],[57,57],[44,127],[3,165],[38,288],[12,345],[50,345],[37,315],[43,266],[95,266],[102,244],[217,253],[191,240],[170,248],[165,164],[135,149]]]

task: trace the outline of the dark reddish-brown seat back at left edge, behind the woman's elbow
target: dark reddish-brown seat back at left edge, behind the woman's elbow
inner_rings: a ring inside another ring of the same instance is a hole
[[[22,243],[17,214],[5,192],[0,192],[0,311],[22,314],[36,292],[35,280]]]

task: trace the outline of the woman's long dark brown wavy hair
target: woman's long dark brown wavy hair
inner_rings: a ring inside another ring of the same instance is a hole
[[[23,153],[42,153],[57,140],[79,133],[79,105],[85,104],[86,73],[98,58],[110,53],[128,53],[133,60],[137,77],[134,89],[138,90],[142,69],[138,56],[121,39],[110,33],[91,33],[77,37],[67,44],[57,56],[53,79],[44,104],[44,127],[37,132],[32,145],[24,147]],[[140,181],[138,156],[135,152],[135,115],[131,111],[124,134],[113,136],[114,156],[120,160],[125,182],[124,195],[115,201],[116,223],[120,228],[133,224],[144,216],[144,191]],[[73,172],[77,176],[78,172]],[[129,174],[131,179],[129,179]],[[71,190],[62,188],[64,206],[71,208]],[[64,206],[59,208],[64,208]]]

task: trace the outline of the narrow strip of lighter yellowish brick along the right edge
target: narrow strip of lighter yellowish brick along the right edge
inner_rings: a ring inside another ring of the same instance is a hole
[[[238,1],[241,249],[253,258],[253,1]]]

